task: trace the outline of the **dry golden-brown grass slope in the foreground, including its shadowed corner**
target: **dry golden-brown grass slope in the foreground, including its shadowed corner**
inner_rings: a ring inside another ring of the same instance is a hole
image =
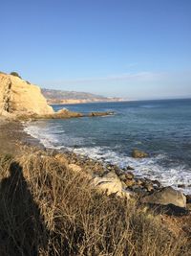
[[[1,157],[0,181],[0,255],[190,255],[184,237],[46,152]]]

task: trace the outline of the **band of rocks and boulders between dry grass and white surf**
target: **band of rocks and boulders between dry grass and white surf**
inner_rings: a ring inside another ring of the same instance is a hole
[[[177,208],[169,207],[167,209],[164,206],[163,210],[168,211],[169,214],[189,214],[189,209],[191,209],[189,195],[183,195],[171,187],[163,187],[159,180],[138,177],[134,175],[134,169],[130,166],[120,169],[116,165],[104,164],[70,151],[61,153],[60,157],[67,159],[74,172],[84,172],[88,175],[92,179],[93,185],[108,195],[116,194],[123,198],[138,198],[140,202],[153,204],[154,207],[172,204]],[[179,207],[184,209],[179,209]]]

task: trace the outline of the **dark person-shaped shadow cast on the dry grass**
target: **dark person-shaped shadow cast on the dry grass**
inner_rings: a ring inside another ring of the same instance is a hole
[[[38,255],[46,249],[47,234],[22,167],[12,162],[10,176],[0,184],[0,255]]]

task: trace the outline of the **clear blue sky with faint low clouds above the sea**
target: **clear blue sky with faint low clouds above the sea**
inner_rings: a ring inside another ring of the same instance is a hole
[[[190,0],[2,0],[0,70],[41,87],[191,97]]]

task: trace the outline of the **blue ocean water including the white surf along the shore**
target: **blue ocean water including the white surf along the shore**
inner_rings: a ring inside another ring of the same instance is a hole
[[[191,99],[84,105],[58,110],[115,111],[105,117],[36,121],[25,130],[47,148],[70,150],[94,159],[132,166],[135,174],[191,193]],[[133,149],[150,157],[134,159]]]

